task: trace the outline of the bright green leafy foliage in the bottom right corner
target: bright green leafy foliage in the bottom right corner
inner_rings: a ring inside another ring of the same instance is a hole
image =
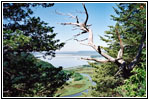
[[[141,62],[132,70],[134,75],[125,80],[124,85],[116,88],[124,97],[146,96],[146,50],[142,52]]]

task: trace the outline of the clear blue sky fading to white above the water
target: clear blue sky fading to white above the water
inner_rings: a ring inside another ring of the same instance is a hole
[[[108,26],[115,25],[115,21],[112,20],[110,15],[116,15],[112,7],[116,7],[115,3],[85,3],[89,19],[88,24],[92,24],[90,27],[93,31],[94,43],[100,46],[107,46],[105,42],[101,41],[99,36],[104,36],[104,31],[109,30]],[[72,26],[63,26],[59,23],[63,22],[76,22],[75,19],[69,16],[63,16],[56,14],[56,11],[61,13],[71,13],[74,16],[78,16],[80,21],[85,20],[85,14],[78,13],[84,12],[81,3],[55,3],[54,6],[49,8],[36,7],[33,8],[34,16],[39,16],[41,20],[48,23],[49,26],[54,26],[54,33],[58,33],[56,39],[60,39],[60,42],[66,42],[66,40],[73,37],[73,35],[81,32],[80,30],[72,30]],[[78,39],[85,39],[88,37],[88,33],[80,36]],[[87,41],[85,42],[87,43]],[[70,40],[67,41],[65,46],[60,51],[93,51],[89,46],[81,45],[80,43]]]

